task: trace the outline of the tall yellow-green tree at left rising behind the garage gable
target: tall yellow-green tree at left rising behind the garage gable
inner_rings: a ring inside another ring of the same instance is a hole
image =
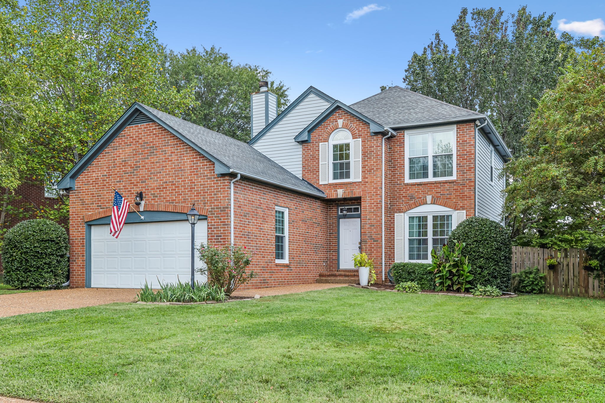
[[[41,118],[28,178],[66,173],[134,101],[172,114],[192,92],[168,85],[146,0],[29,0],[18,23]]]

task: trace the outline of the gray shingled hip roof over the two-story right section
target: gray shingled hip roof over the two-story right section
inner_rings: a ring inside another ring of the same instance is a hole
[[[400,86],[391,87],[350,106],[368,118],[390,127],[483,116]]]

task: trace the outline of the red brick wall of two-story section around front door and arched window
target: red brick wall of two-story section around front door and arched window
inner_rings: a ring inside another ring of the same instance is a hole
[[[319,143],[329,141],[339,127],[348,129],[353,138],[362,139],[362,181],[319,184]],[[382,273],[382,136],[371,135],[368,124],[348,112],[338,110],[312,134],[311,141],[302,145],[302,177],[322,189],[329,202],[328,269],[336,269],[338,260],[336,235],[336,206],[361,203],[362,251],[374,260],[376,276]],[[421,198],[433,196],[433,202],[466,210],[474,215],[474,124],[457,125],[456,179],[405,183],[405,134],[387,139],[385,144],[385,271],[394,262],[394,214],[403,213]],[[338,198],[337,190],[342,190]],[[385,274],[386,277],[386,274]]]

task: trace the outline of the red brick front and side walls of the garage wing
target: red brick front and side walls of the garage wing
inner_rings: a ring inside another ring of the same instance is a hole
[[[85,285],[83,216],[111,206],[115,187],[148,203],[208,208],[208,242],[230,242],[229,181],[214,163],[156,123],[128,126],[76,179],[70,193],[71,286]],[[290,265],[275,263],[275,205],[289,207]],[[322,201],[260,182],[235,182],[235,244],[255,252],[259,276],[247,288],[315,282],[325,268],[326,208]]]

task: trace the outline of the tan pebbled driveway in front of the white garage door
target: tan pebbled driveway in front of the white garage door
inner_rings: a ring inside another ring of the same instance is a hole
[[[70,288],[0,295],[0,317],[131,302],[138,291],[131,288]]]

